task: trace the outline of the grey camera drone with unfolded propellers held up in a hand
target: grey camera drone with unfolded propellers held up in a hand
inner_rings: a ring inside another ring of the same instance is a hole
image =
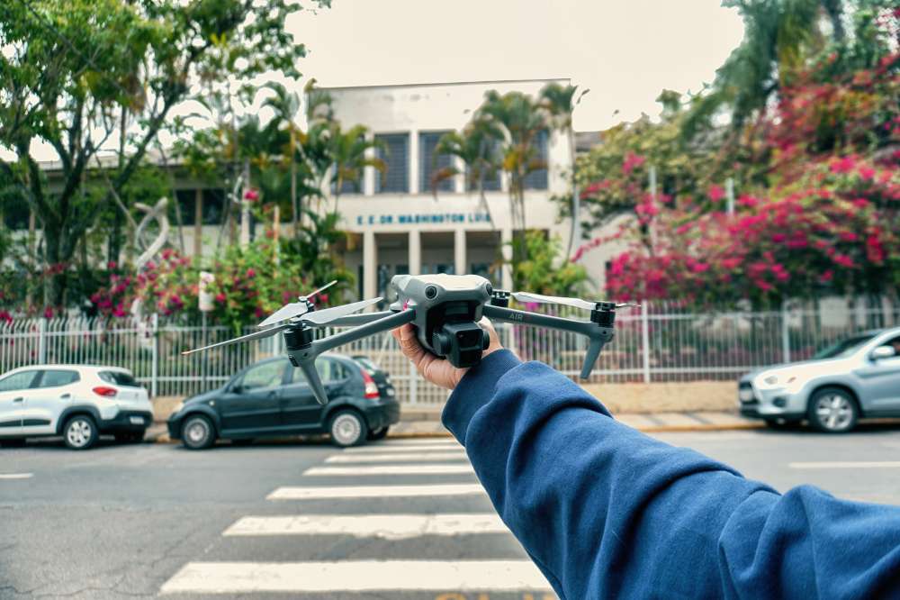
[[[298,302],[284,305],[259,323],[258,332],[249,333],[228,341],[220,341],[195,350],[191,354],[244,341],[261,340],[277,333],[284,334],[284,346],[288,359],[300,368],[320,404],[328,404],[329,398],[315,368],[316,358],[351,341],[395,329],[413,323],[416,336],[423,348],[447,359],[454,367],[473,367],[482,359],[482,352],[490,342],[488,332],[479,326],[482,316],[500,323],[514,323],[534,327],[573,332],[589,340],[581,366],[581,378],[590,377],[600,350],[613,339],[616,309],[629,304],[582,300],[552,295],[510,292],[494,289],[491,282],[478,275],[397,275],[391,280],[391,288],[397,299],[389,310],[359,313],[377,305],[382,297],[362,300],[348,305],[316,310],[313,298],[337,281],[320,287],[309,295],[300,296]],[[521,303],[566,305],[590,311],[589,320],[570,319],[550,314],[538,314],[509,308],[509,300]],[[319,340],[315,330],[323,327],[352,327]]]

